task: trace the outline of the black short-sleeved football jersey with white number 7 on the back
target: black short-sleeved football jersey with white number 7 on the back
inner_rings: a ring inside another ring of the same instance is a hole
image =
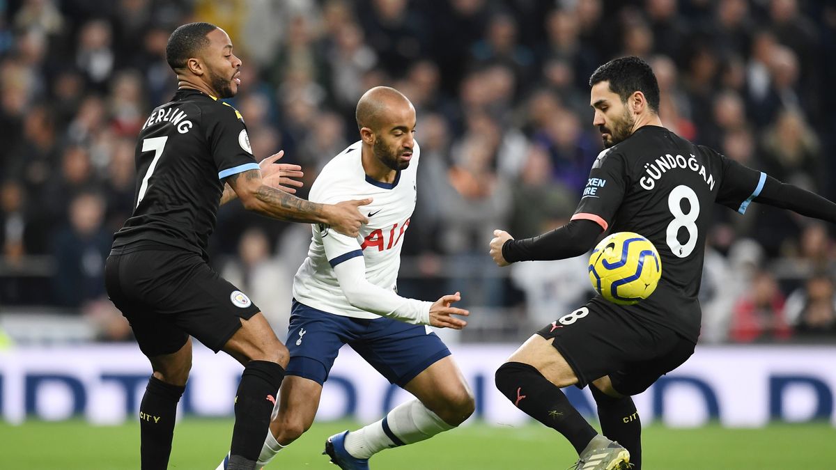
[[[206,258],[223,179],[257,170],[241,114],[217,98],[180,89],[153,110],[136,143],[134,212],[113,248],[184,248]]]

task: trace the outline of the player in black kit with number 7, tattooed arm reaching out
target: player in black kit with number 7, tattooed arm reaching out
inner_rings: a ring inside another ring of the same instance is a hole
[[[267,434],[288,350],[247,295],[206,263],[217,209],[238,197],[264,216],[329,224],[357,236],[368,222],[358,207],[370,199],[315,204],[266,184],[287,182],[279,171],[283,166],[271,165],[280,154],[259,166],[242,116],[218,100],[237,93],[241,68],[222,29],[208,23],[177,28],[166,59],[178,89],[140,131],[134,212],[115,233],[105,267],[108,295],[130,321],[154,371],[140,404],[141,467],[168,464],[194,336],[245,367],[235,398],[229,468],[249,469]]]

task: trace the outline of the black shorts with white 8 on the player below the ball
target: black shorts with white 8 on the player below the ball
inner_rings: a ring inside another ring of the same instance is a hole
[[[636,395],[683,364],[696,346],[661,324],[636,319],[606,300],[564,314],[539,330],[578,376],[579,388],[609,375],[622,395]]]

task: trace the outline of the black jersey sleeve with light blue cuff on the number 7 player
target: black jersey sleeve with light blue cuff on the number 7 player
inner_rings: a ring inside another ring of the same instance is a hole
[[[258,163],[252,156],[247,125],[235,108],[222,101],[204,111],[206,141],[209,142],[212,159],[217,166],[218,179],[242,171],[257,170]]]

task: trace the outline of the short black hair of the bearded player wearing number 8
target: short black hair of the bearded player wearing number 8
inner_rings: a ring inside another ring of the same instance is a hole
[[[656,74],[644,60],[638,57],[621,57],[610,60],[596,69],[589,77],[589,86],[609,81],[609,89],[626,103],[630,95],[640,91],[645,95],[650,110],[659,114],[659,82]]]

